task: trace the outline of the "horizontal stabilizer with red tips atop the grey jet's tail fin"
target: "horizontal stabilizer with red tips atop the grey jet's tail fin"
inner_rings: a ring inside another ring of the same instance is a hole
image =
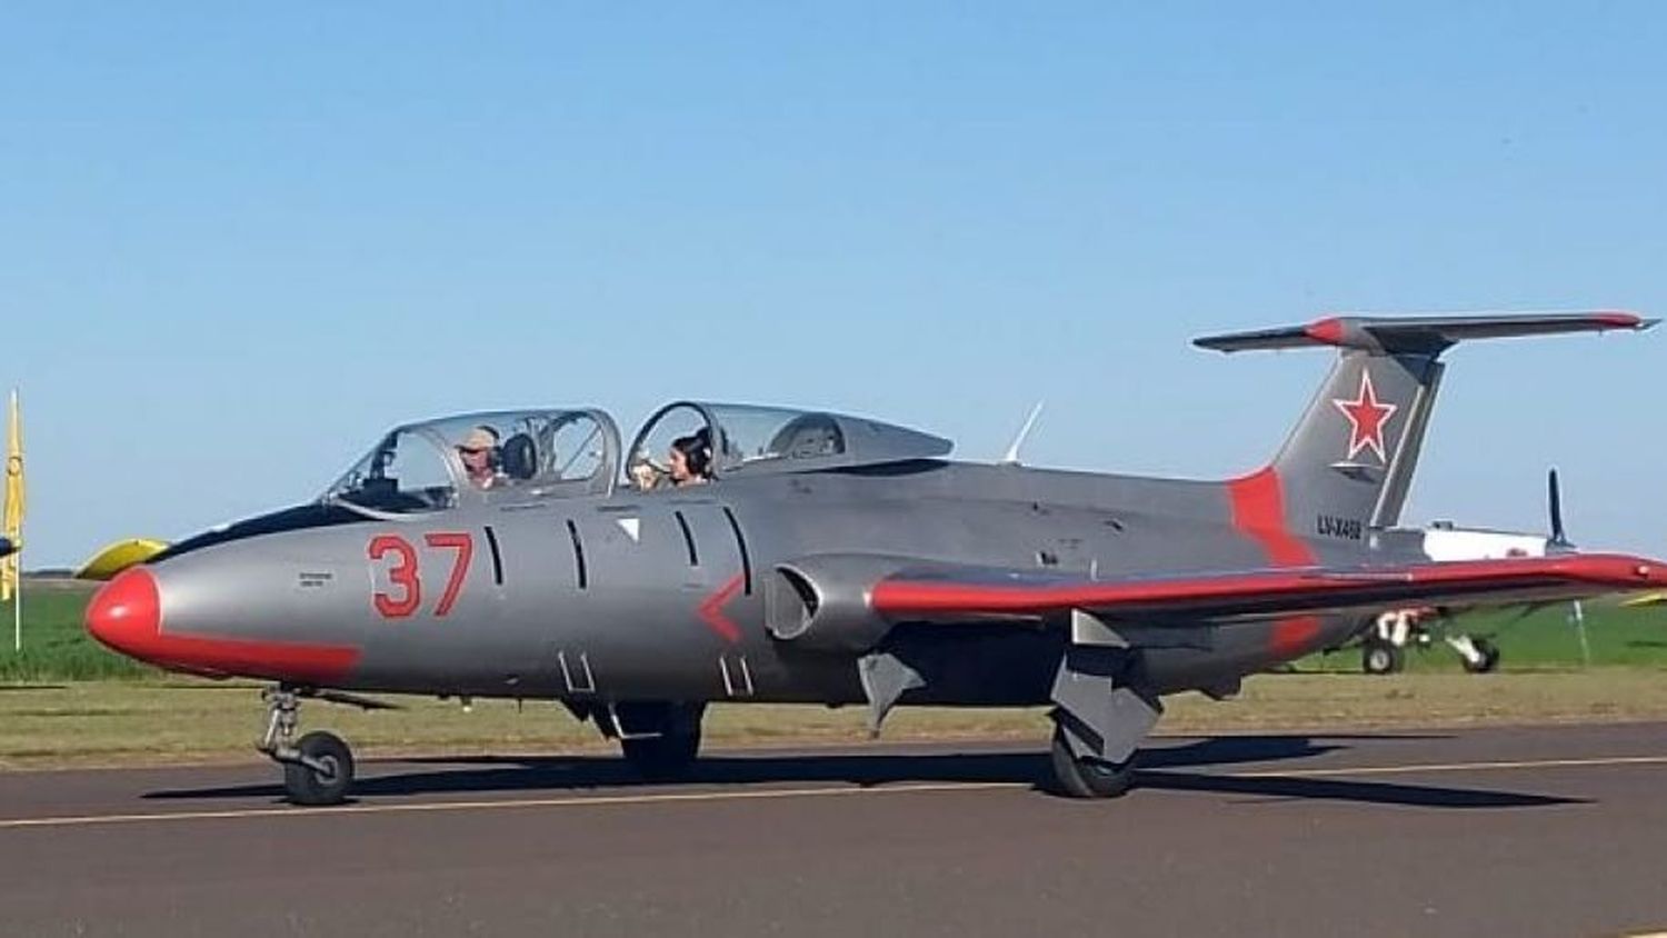
[[[1307,325],[1210,335],[1195,338],[1192,343],[1215,352],[1334,347],[1377,355],[1437,355],[1459,342],[1474,338],[1645,330],[1657,322],[1614,310],[1455,317],[1340,315],[1314,320]]]

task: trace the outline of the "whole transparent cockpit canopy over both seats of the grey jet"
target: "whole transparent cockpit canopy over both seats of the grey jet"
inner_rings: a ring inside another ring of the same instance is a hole
[[[950,448],[940,437],[860,417],[677,402],[643,423],[630,460],[622,460],[618,427],[600,410],[503,410],[397,427],[322,500],[373,516],[410,515],[470,501],[608,495],[622,483],[648,491],[930,460]]]

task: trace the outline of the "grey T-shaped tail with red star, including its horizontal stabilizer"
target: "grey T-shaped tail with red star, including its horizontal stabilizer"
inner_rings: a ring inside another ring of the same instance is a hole
[[[1332,347],[1339,358],[1285,445],[1259,473],[1237,480],[1254,501],[1277,505],[1285,530],[1360,538],[1400,518],[1444,365],[1459,342],[1572,332],[1644,330],[1657,320],[1622,312],[1330,317],[1300,327],[1194,340],[1247,352]]]

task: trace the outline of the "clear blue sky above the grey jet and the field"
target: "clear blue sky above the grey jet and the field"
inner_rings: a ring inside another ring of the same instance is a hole
[[[1334,310],[1667,312],[1659,3],[12,3],[27,563],[400,420],[673,397],[1219,476]],[[1455,350],[1409,521],[1667,551],[1667,330]]]

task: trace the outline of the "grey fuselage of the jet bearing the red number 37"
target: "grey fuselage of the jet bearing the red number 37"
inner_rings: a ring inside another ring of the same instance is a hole
[[[857,703],[862,650],[768,626],[778,565],[854,553],[1122,578],[1277,563],[1265,533],[1235,523],[1230,486],[915,460],[360,518],[183,550],[152,573],[163,633],[357,650],[323,678],[237,668],[250,676],[570,701]],[[467,566],[453,571],[465,538]],[[1385,560],[1359,530],[1299,540],[1322,563]],[[1139,641],[1145,681],[1159,693],[1225,686],[1362,625],[1312,621],[1297,640],[1280,640],[1280,621],[1164,623]],[[1045,703],[1067,640],[1012,621],[905,621],[879,635],[927,675],[905,703],[950,705]]]

